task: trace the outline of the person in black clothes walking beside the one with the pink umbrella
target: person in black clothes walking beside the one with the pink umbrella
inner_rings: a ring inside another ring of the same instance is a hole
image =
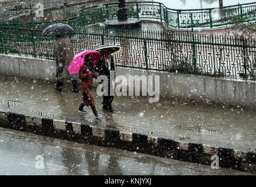
[[[99,72],[99,75],[105,75],[108,77],[108,95],[103,95],[103,109],[109,110],[110,112],[115,112],[112,108],[112,102],[114,96],[110,95],[110,71],[115,71],[115,64],[110,51],[104,50],[100,51],[102,58],[96,65],[95,71]]]

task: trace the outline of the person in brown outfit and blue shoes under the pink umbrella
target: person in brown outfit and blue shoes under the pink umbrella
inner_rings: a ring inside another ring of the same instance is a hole
[[[94,65],[92,64],[92,57],[90,54],[85,56],[84,64],[79,70],[79,79],[81,79],[81,91],[82,91],[82,101],[78,108],[78,112],[87,113],[84,110],[84,106],[91,106],[92,112],[96,118],[101,117],[102,115],[98,114],[95,108],[94,96],[92,95],[92,78],[98,78],[94,71]]]

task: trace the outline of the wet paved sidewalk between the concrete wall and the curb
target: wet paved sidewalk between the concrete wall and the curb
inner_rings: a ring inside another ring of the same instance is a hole
[[[94,96],[96,109],[103,115],[95,119],[77,112],[81,93],[72,93],[71,85],[63,92],[53,84],[26,79],[0,77],[0,108],[40,112],[98,127],[151,134],[151,136],[189,143],[256,152],[256,110],[207,103],[185,103],[161,99],[148,103],[147,97],[115,96],[115,113],[102,110],[102,97]]]

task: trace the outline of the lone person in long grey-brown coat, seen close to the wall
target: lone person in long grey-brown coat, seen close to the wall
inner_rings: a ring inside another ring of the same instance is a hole
[[[63,82],[65,79],[71,79],[73,90],[72,92],[78,91],[78,84],[75,75],[71,75],[68,71],[68,65],[72,61],[73,47],[68,36],[56,36],[56,42],[53,47],[53,53],[56,57],[56,78],[57,85],[53,86],[57,91],[62,91]]]

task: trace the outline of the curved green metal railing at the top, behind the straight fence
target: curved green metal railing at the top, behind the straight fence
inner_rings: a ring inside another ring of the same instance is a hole
[[[117,3],[82,8],[78,11],[77,16],[72,18],[72,24],[91,25],[93,23],[117,19],[117,9]],[[168,26],[176,29],[192,27],[212,28],[216,26],[231,25],[233,20],[230,19],[230,16],[239,16],[241,19],[245,19],[246,21],[256,20],[256,2],[250,4],[224,6],[223,8],[194,10],[169,9],[159,2],[126,2],[126,9],[129,18],[158,20],[160,22],[165,22]],[[27,17],[25,19],[26,23],[22,23],[22,21],[19,19],[16,22],[2,21],[0,22],[0,25],[40,27],[41,23],[44,22],[43,20],[46,19],[41,18],[42,22],[39,22],[38,24],[31,24],[34,23],[35,20],[39,19],[34,16],[34,13],[30,17],[30,22],[28,22],[29,20],[27,20]],[[63,20],[56,20],[56,22],[61,21],[63,22]]]

